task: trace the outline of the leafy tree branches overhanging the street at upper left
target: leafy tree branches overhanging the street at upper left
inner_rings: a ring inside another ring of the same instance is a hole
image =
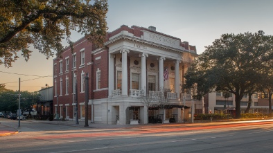
[[[27,61],[30,45],[47,58],[60,57],[62,39],[69,39],[71,30],[101,46],[107,33],[107,11],[107,0],[0,1],[0,64],[12,66],[19,51]]]

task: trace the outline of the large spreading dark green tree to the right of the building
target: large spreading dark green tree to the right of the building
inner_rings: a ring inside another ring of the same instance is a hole
[[[223,34],[207,46],[185,78],[186,87],[197,84],[199,91],[227,91],[235,95],[236,118],[240,118],[240,100],[266,73],[273,59],[273,37],[258,33]]]

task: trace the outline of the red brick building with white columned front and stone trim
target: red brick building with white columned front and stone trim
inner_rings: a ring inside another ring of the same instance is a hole
[[[74,53],[65,48],[53,60],[55,114],[75,118],[72,78],[78,82],[78,117],[85,119],[84,76],[89,76],[91,121],[107,124],[148,123],[148,118],[182,118],[181,87],[188,65],[197,56],[195,46],[159,33],[155,27],[121,26],[107,34],[104,48],[94,48],[84,37],[74,43]],[[73,55],[72,55],[73,54]],[[73,62],[74,59],[74,62]],[[141,91],[157,95],[170,89],[170,109],[150,109],[139,100]],[[58,100],[57,100],[58,99]],[[58,103],[57,103],[58,101]],[[191,101],[187,100],[186,105]]]

